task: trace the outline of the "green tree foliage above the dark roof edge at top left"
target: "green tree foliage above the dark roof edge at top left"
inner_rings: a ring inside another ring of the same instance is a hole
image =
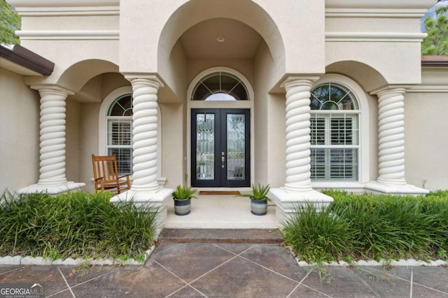
[[[20,43],[16,30],[20,30],[20,16],[12,10],[5,0],[0,0],[0,43],[18,45]]]

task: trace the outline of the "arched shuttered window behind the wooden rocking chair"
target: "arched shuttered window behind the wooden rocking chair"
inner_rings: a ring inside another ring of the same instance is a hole
[[[117,158],[118,172],[132,174],[132,95],[113,100],[107,111],[107,154]]]

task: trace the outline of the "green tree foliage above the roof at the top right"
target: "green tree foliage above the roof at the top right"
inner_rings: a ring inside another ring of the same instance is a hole
[[[421,44],[423,55],[445,55],[448,56],[448,6],[435,10],[437,19],[426,17],[425,31],[428,33]]]

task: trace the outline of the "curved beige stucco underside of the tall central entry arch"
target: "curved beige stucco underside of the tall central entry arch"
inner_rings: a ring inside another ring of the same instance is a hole
[[[238,9],[235,9],[235,7]],[[217,20],[221,20],[221,23],[226,23],[225,25],[217,24]],[[192,29],[192,27],[197,27],[201,23],[205,24],[205,27],[216,29],[214,38],[201,41],[202,47],[210,47],[211,49],[214,48],[212,43],[216,43],[216,38],[225,37],[221,35],[223,29],[234,35],[236,32],[232,32],[232,29],[236,27],[245,31],[253,30],[265,43],[274,65],[270,75],[272,79],[269,83],[271,85],[276,84],[284,75],[286,71],[286,50],[283,45],[283,38],[272,17],[260,5],[250,0],[188,1],[169,17],[160,33],[158,42],[158,73],[167,82],[167,87],[174,91],[174,94],[183,94],[186,84],[189,84],[188,79],[183,80],[182,75],[183,71],[187,71],[186,68],[188,66],[186,64],[188,59],[191,58],[189,57],[188,49],[177,49],[176,43],[188,30]],[[226,43],[231,42],[231,39],[231,36],[228,36]],[[179,52],[183,53],[179,54]],[[221,56],[221,58],[223,57]],[[225,58],[240,59],[241,57]],[[252,57],[244,58],[254,59],[255,53],[252,54]],[[215,64],[214,66],[223,65]],[[181,97],[184,97],[184,95]]]

